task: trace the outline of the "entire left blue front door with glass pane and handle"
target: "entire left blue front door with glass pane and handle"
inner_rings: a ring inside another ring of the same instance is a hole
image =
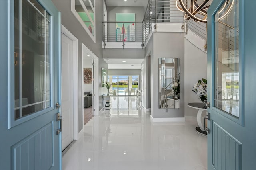
[[[0,14],[0,169],[60,170],[60,13],[1,0]]]

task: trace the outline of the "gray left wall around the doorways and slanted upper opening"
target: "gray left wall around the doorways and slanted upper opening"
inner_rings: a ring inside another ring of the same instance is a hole
[[[107,63],[102,59],[102,36],[103,36],[103,30],[102,30],[102,21],[103,21],[103,0],[96,0],[95,1],[95,21],[96,21],[96,30],[95,30],[95,36],[96,36],[96,43],[92,41],[92,39],[89,37],[87,32],[84,30],[82,25],[79,23],[79,21],[76,19],[74,14],[71,12],[71,1],[70,0],[52,0],[52,2],[55,4],[56,8],[61,12],[62,14],[62,25],[66,27],[77,39],[78,39],[78,92],[79,92],[79,131],[82,129],[82,43],[86,45],[98,58],[99,58],[99,74],[101,73],[101,67],[108,68]],[[101,84],[99,75],[99,84]],[[99,87],[99,90],[102,87]],[[103,108],[103,102],[102,102],[102,96],[100,94],[100,106],[99,109]]]

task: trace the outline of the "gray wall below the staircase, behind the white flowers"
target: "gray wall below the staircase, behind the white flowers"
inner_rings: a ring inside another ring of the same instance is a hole
[[[207,79],[207,54],[185,39],[185,116],[196,116],[197,109],[188,107],[191,102],[200,102],[192,87],[198,80]]]

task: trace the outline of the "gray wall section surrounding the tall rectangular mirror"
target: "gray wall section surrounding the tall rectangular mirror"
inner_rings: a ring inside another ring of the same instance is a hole
[[[184,33],[153,33],[154,51],[151,55],[151,115],[154,118],[184,117]],[[158,108],[158,59],[180,58],[180,108]]]

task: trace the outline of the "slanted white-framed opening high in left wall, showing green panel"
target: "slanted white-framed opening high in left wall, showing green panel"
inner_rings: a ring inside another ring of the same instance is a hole
[[[82,1],[82,4],[80,2],[80,0],[75,0],[75,10],[82,19],[84,25],[86,25],[90,33],[94,36],[94,10],[88,0]]]

